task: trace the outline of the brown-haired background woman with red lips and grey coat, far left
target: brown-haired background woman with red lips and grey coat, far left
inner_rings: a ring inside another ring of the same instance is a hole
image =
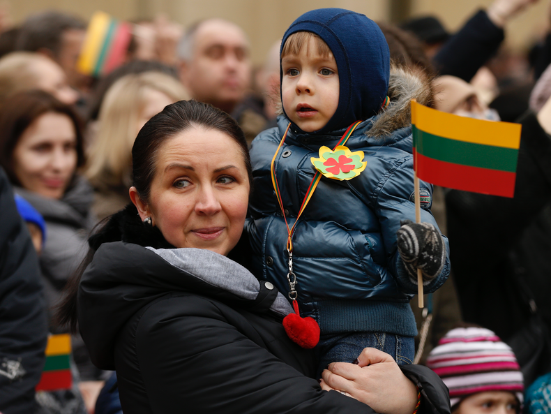
[[[66,332],[52,315],[61,290],[86,255],[86,237],[95,224],[90,213],[92,189],[77,174],[84,165],[80,120],[66,103],[44,91],[27,91],[8,98],[0,107],[0,165],[15,193],[27,200],[44,218],[45,243],[40,271],[45,288],[49,330]],[[73,337],[73,357],[86,386],[96,383],[100,371],[89,362],[80,337]],[[84,387],[83,383],[79,383]],[[46,406],[84,404],[80,392],[40,394]],[[80,406],[77,409],[77,406]]]

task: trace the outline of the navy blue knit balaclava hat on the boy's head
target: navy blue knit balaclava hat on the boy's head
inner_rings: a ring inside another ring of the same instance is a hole
[[[287,29],[280,56],[287,38],[297,31],[317,34],[327,43],[337,62],[338,108],[319,132],[336,131],[377,114],[386,98],[390,76],[390,52],[379,26],[365,15],[342,8],[312,10]]]

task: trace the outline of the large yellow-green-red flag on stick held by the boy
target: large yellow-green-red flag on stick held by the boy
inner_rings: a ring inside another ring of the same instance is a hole
[[[520,124],[448,114],[412,101],[414,168],[438,186],[513,197]]]

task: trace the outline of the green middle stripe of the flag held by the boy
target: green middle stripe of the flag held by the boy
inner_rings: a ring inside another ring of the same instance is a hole
[[[416,151],[428,158],[489,170],[515,172],[517,169],[518,149],[451,140],[413,128]]]

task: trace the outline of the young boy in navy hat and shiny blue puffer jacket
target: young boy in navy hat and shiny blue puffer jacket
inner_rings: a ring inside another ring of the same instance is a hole
[[[414,173],[404,111],[416,96],[408,91],[377,115],[388,103],[389,66],[386,40],[365,15],[337,8],[305,13],[282,39],[283,115],[252,142],[255,191],[246,223],[252,271],[297,297],[301,316],[315,318],[320,370],[353,362],[369,346],[411,363],[416,326],[409,300],[417,268],[425,293],[449,272],[447,240],[429,211],[429,184],[421,183],[423,224],[409,222]],[[356,121],[362,122],[341,142],[346,149],[331,155]],[[317,170],[324,177],[315,186]],[[290,229],[295,221],[289,255],[286,223]]]

